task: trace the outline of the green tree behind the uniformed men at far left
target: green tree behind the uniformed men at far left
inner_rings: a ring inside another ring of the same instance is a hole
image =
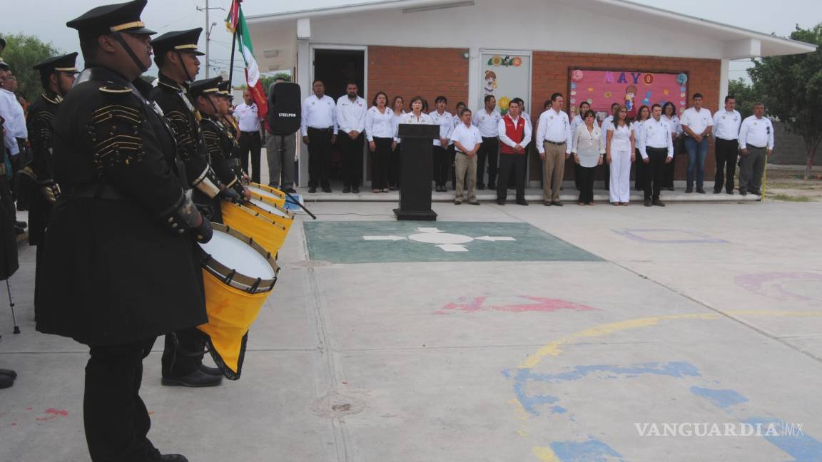
[[[34,35],[7,35],[0,34],[6,39],[6,49],[3,50],[3,61],[12,67],[12,73],[17,77],[19,87],[17,93],[28,101],[35,101],[43,89],[40,84],[40,73],[32,69],[40,61],[60,54],[50,42],[44,43]]]

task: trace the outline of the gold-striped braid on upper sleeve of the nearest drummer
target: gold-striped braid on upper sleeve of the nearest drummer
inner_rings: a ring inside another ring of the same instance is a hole
[[[127,105],[132,103],[130,99],[118,100],[121,101],[123,104],[108,104],[91,114],[89,132],[95,143],[98,169],[141,162],[145,155],[140,139],[143,114],[140,109]]]

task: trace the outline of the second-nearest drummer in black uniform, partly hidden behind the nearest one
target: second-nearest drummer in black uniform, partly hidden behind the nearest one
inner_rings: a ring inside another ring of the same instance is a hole
[[[203,53],[197,50],[202,29],[176,30],[151,40],[159,81],[151,99],[163,110],[174,134],[177,161],[183,164],[187,187],[197,205],[209,206],[210,219],[219,219],[219,187],[205,154],[200,126],[189,100],[189,85],[200,72]],[[217,203],[215,203],[217,202]],[[205,336],[196,327],[166,335],[163,350],[163,385],[215,386],[222,381],[216,367],[203,365]]]

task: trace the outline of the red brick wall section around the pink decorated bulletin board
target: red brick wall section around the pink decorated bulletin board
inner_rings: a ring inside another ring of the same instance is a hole
[[[532,86],[531,86],[531,117],[534,130],[539,114],[543,112],[543,103],[551,98],[551,94],[559,91],[568,97],[568,67],[598,67],[613,69],[639,69],[643,71],[672,71],[688,72],[688,99],[694,93],[704,95],[704,107],[711,113],[716,111],[719,99],[719,71],[718,59],[694,58],[659,58],[655,56],[629,56],[621,54],[595,53],[554,53],[533,52]],[[689,103],[690,106],[690,103]],[[713,139],[708,157],[705,159],[705,181],[713,181],[715,161],[713,159]],[[685,179],[687,156],[677,156],[677,179]],[[539,180],[542,170],[539,158],[531,156],[530,179]],[[602,173],[600,173],[602,174]],[[566,164],[566,179],[574,178],[574,169]]]

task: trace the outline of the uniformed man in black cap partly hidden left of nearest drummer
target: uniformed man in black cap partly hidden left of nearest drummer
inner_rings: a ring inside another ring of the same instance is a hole
[[[37,317],[37,284],[42,272],[45,252],[45,233],[52,206],[60,196],[60,188],[54,182],[52,162],[53,119],[57,115],[62,99],[72,89],[77,72],[77,53],[48,58],[39,62],[35,69],[40,73],[43,92],[29,107],[26,127],[29,128],[31,143],[31,170],[37,179],[39,191],[31,196],[29,203],[29,245],[37,246],[35,256],[35,318]]]

